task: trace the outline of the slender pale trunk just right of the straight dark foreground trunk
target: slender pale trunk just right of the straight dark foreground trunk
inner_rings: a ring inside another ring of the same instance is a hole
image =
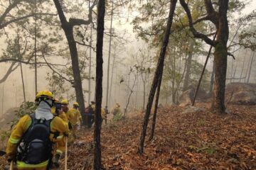
[[[106,94],[106,106],[108,108],[108,97],[109,97],[109,84],[110,84],[110,55],[111,55],[111,40],[112,40],[112,21],[113,21],[113,6],[114,0],[112,0],[111,7],[111,19],[110,19],[110,46],[109,46],[109,56],[107,60],[107,94]]]

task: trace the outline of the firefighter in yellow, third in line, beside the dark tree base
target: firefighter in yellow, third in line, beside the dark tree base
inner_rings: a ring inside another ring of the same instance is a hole
[[[78,110],[79,104],[78,102],[73,103],[73,108],[70,108],[67,112],[68,119],[72,125],[73,136],[76,138],[76,131],[78,129],[78,123],[82,124],[82,116],[80,111]]]

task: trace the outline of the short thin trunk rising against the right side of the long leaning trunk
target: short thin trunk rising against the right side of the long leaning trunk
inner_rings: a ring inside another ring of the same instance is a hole
[[[157,85],[157,91],[156,91],[156,101],[155,101],[155,106],[154,106],[154,115],[153,115],[153,120],[152,120],[152,125],[151,125],[151,132],[149,135],[149,141],[153,139],[154,137],[154,130],[156,127],[156,113],[157,113],[157,108],[158,108],[158,103],[159,103],[159,96],[160,96],[160,89],[161,89],[161,77],[159,77],[159,83]]]

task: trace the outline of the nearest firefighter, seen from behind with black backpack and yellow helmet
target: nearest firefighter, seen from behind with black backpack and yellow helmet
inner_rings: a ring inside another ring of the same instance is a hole
[[[8,161],[15,161],[18,170],[48,169],[54,143],[69,133],[63,120],[50,113],[54,105],[50,91],[38,92],[35,101],[36,112],[18,121],[6,147]]]

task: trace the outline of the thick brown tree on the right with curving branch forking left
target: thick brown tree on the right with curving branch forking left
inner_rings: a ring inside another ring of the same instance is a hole
[[[215,24],[217,39],[215,41],[210,40],[208,36],[199,33],[193,27],[193,19],[191,11],[188,8],[188,4],[184,0],[180,0],[181,6],[183,6],[188,16],[188,25],[195,38],[201,38],[208,45],[215,47],[214,63],[215,63],[215,79],[213,86],[213,102],[212,111],[215,113],[225,113],[225,80],[227,74],[227,59],[228,59],[228,0],[218,1],[218,12],[213,8],[212,1],[205,1],[207,18]]]

